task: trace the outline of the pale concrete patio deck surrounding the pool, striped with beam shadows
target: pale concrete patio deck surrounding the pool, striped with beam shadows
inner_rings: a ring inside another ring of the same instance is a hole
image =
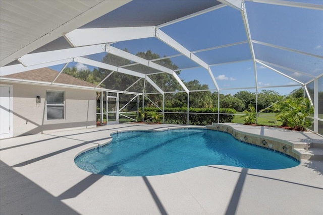
[[[232,126],[321,141],[312,133]],[[193,126],[118,124],[1,140],[0,214],[323,214],[321,160],[282,170],[208,165],[147,177],[95,175],[74,164],[80,151],[104,144],[112,132],[168,127]]]

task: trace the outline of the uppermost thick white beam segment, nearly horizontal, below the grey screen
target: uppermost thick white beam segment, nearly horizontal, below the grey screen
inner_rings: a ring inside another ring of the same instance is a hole
[[[64,35],[74,47],[154,37],[155,27],[81,28]]]

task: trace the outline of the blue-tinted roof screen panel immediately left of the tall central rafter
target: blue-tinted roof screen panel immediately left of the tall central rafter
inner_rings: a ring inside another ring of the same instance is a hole
[[[217,9],[161,30],[190,51],[247,40],[241,14],[231,7]]]

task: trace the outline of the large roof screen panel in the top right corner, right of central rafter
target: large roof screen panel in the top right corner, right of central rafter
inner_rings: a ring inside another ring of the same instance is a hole
[[[320,10],[246,2],[246,11],[253,40],[323,56]]]

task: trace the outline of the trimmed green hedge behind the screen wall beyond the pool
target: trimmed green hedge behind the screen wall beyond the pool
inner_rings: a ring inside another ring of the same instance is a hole
[[[139,108],[140,111],[142,108]],[[144,112],[149,115],[151,112],[161,112],[158,108],[146,107]],[[171,112],[171,113],[167,113]],[[190,108],[189,123],[192,125],[207,125],[212,122],[218,122],[218,108]],[[214,114],[194,114],[194,113],[214,113]],[[220,113],[234,114],[235,109],[220,108]],[[219,122],[231,122],[234,115],[220,115]],[[186,124],[187,123],[187,108],[165,108],[165,123],[168,124]]]

